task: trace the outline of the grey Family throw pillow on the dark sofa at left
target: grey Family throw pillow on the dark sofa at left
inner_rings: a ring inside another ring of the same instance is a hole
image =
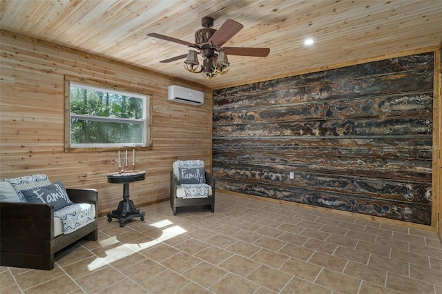
[[[34,188],[32,190],[22,190],[23,196],[28,203],[52,204],[54,210],[59,210],[65,206],[73,204],[68,197],[64,184],[55,182],[49,186]]]

